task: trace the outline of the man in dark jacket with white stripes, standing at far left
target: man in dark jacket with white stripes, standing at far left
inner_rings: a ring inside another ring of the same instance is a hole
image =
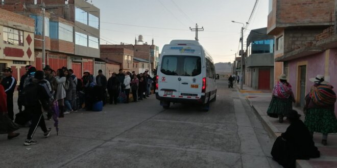
[[[14,120],[14,111],[13,111],[13,93],[16,86],[16,79],[12,76],[12,69],[5,68],[4,70],[5,78],[1,82],[1,85],[5,89],[5,93],[7,94],[7,111],[8,117]]]

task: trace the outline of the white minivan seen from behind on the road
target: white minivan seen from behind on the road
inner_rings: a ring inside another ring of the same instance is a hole
[[[172,103],[198,103],[208,111],[216,99],[213,60],[195,40],[172,40],[163,46],[156,76],[156,98],[163,108]]]

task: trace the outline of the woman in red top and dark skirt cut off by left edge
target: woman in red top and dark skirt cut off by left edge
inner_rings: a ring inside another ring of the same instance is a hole
[[[0,74],[0,83],[3,80],[3,74]],[[0,85],[0,134],[8,134],[7,138],[11,139],[13,137],[19,136],[20,133],[14,132],[19,129],[19,127],[13,123],[13,121],[8,117],[7,114],[7,95],[5,89]]]

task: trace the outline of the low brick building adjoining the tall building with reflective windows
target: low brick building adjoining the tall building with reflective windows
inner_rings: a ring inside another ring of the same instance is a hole
[[[133,69],[133,50],[127,48],[116,48],[115,45],[101,45],[101,59],[111,60],[121,63],[123,71],[132,71]]]

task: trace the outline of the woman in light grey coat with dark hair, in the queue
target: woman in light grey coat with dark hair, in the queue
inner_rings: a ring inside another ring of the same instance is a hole
[[[66,96],[66,92],[64,89],[64,85],[65,85],[65,81],[66,78],[64,76],[64,72],[62,69],[58,69],[56,72],[56,83],[57,83],[57,92],[56,92],[56,96],[55,99],[58,101],[59,103],[59,109],[60,109],[60,118],[64,117],[64,98]]]

